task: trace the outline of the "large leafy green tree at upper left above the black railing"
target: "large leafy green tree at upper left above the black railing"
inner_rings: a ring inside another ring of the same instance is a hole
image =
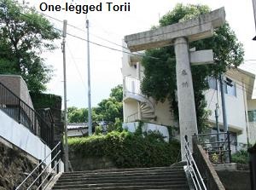
[[[55,49],[53,41],[60,32],[34,9],[12,0],[0,0],[0,73],[19,74],[28,89],[44,91],[51,68],[40,57],[44,50]]]

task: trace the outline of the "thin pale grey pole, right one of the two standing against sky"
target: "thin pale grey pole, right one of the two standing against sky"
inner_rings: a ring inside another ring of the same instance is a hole
[[[88,134],[92,135],[91,104],[90,104],[90,41],[89,41],[89,20],[86,14],[87,28],[87,71],[88,71]]]

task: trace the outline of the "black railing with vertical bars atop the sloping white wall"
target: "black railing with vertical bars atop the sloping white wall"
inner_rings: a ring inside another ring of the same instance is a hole
[[[24,125],[34,135],[38,135],[50,148],[54,141],[53,124],[47,124],[44,119],[25,101],[15,95],[3,83],[0,83],[0,110]]]

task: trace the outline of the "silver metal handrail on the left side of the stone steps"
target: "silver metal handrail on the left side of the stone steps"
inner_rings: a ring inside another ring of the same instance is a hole
[[[45,161],[47,160],[47,158],[49,158],[49,156],[52,156],[53,158],[51,158],[49,164],[45,164]],[[33,175],[38,175],[37,177],[31,182],[31,184],[26,187],[26,190],[31,189],[35,183],[37,182],[37,190],[44,190],[44,182],[46,182],[46,180],[48,179],[49,175],[53,172],[53,170],[55,170],[55,168],[57,167],[57,173],[59,173],[59,164],[61,162],[61,141],[58,142],[58,144],[52,149],[52,151],[44,158],[44,160],[39,160],[39,164],[37,165],[37,167],[35,167],[34,170],[32,170],[32,172],[26,176],[26,178],[20,183],[20,185],[18,187],[15,187],[15,190],[19,190],[21,189],[21,187],[24,187],[26,184],[26,181],[32,177]],[[52,165],[51,165],[52,164]],[[50,167],[50,169],[48,170],[48,168]],[[48,170],[46,173],[47,175],[44,176],[43,179],[43,175],[45,173],[45,171]],[[28,185],[28,184],[26,184]],[[33,187],[34,189],[35,187]],[[24,188],[22,188],[24,189]]]

